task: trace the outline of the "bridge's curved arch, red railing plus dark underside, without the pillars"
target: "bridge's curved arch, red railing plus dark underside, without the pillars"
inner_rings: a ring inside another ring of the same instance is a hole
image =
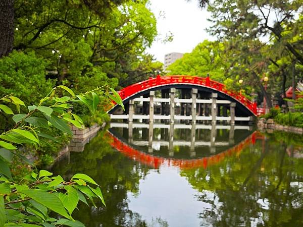
[[[161,90],[167,88],[198,88],[207,92],[218,93],[222,99],[229,99],[236,102],[237,108],[243,116],[257,116],[257,103],[252,102],[238,92],[228,90],[226,86],[217,81],[211,80],[210,77],[197,76],[160,76],[150,78],[121,89],[118,93],[123,101],[127,103],[130,99],[148,93],[152,90]],[[112,113],[118,107],[116,103],[108,111]]]

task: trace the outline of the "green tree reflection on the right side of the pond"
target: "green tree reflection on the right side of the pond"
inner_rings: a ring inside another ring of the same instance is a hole
[[[182,171],[210,204],[201,225],[303,226],[303,159],[286,151],[284,142],[258,141],[220,164]]]

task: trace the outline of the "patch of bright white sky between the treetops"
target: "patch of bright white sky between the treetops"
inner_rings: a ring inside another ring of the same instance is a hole
[[[146,52],[164,63],[164,55],[170,52],[191,52],[205,39],[214,40],[205,29],[211,25],[205,9],[198,8],[197,0],[150,0],[149,9],[157,18],[158,37]],[[172,42],[163,43],[166,34],[172,33]]]

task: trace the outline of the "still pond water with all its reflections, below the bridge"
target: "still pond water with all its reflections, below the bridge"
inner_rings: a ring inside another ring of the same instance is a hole
[[[303,226],[302,136],[113,123],[53,171],[100,185],[107,207],[74,211],[86,226]]]

